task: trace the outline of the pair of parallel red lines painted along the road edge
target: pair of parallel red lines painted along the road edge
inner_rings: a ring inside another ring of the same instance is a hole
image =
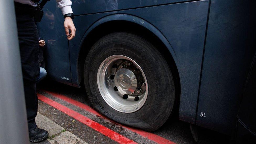
[[[86,110],[86,111],[88,111],[88,112],[90,112],[92,114],[95,114],[97,116],[100,116],[100,117],[102,117],[104,119],[107,119],[107,120],[113,122],[112,120],[106,118],[104,115],[100,114],[98,111],[95,111],[93,108],[91,108],[90,106],[88,106],[86,104],[80,103],[80,102],[78,102],[76,100],[73,100],[71,98],[68,98],[68,97],[66,97],[64,95],[61,95],[61,94],[58,94],[58,93],[49,92],[49,91],[44,91],[44,92],[46,92],[48,94],[51,94],[52,96],[57,97],[59,99],[65,100],[66,102],[68,102],[70,104],[73,104],[75,106],[78,106],[79,108],[82,108],[82,109],[84,109],[84,110]],[[54,108],[56,108],[56,109],[62,111],[63,113],[73,117],[74,119],[82,122],[83,124],[91,127],[92,129],[102,133],[103,135],[111,138],[112,140],[114,140],[114,141],[116,141],[118,143],[124,143],[124,144],[125,143],[136,143],[136,142],[130,140],[129,138],[127,138],[127,137],[125,137],[123,135],[120,135],[120,134],[118,134],[117,132],[115,132],[113,130],[108,129],[107,127],[105,127],[105,126],[103,126],[103,125],[101,125],[101,124],[99,124],[99,123],[97,123],[97,122],[87,118],[86,116],[84,116],[82,114],[79,114],[76,111],[71,110],[71,109],[67,108],[66,106],[61,105],[60,103],[57,103],[54,100],[51,100],[51,99],[49,99],[49,98],[47,98],[47,97],[45,97],[45,96],[43,96],[41,94],[38,94],[38,99],[40,99],[43,102],[53,106]],[[114,122],[114,123],[116,123],[116,122]],[[125,125],[121,125],[121,124],[119,124],[119,125],[122,126],[123,128],[126,128],[126,129],[129,129],[129,130],[133,131],[133,132],[136,132],[137,134],[139,134],[139,135],[141,135],[143,137],[146,137],[149,140],[152,140],[152,141],[157,142],[157,143],[172,143],[172,144],[174,143],[172,141],[169,141],[169,140],[167,140],[167,139],[165,139],[165,138],[163,138],[161,136],[152,134],[150,132],[146,132],[146,131],[143,131],[143,130],[131,128],[131,127],[128,127],[128,126],[125,126]]]

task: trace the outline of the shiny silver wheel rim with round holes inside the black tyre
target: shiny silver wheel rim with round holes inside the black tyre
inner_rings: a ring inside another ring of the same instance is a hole
[[[97,85],[104,101],[122,113],[133,113],[146,102],[148,85],[145,73],[131,58],[113,55],[98,69]]]

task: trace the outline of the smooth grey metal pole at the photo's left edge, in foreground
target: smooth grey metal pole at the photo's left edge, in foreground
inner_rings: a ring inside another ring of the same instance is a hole
[[[0,144],[29,143],[14,1],[0,12]]]

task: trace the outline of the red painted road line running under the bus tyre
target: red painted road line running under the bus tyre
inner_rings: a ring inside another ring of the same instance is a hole
[[[86,104],[83,104],[81,102],[78,102],[76,100],[73,100],[73,99],[71,99],[69,97],[66,97],[65,95],[61,95],[61,94],[50,92],[50,91],[46,91],[46,90],[44,90],[44,92],[49,93],[49,94],[53,95],[54,97],[60,98],[62,100],[65,100],[68,103],[76,105],[76,106],[78,106],[78,107],[80,107],[80,108],[82,108],[82,109],[84,109],[86,111],[89,111],[90,113],[93,113],[93,114],[95,114],[97,116],[100,116],[100,117],[103,117],[105,119],[108,119],[111,122],[114,122],[114,121],[110,120],[109,118],[107,118],[106,116],[104,116],[101,113],[99,113],[98,111],[94,110],[92,107],[90,107],[90,106],[88,106]],[[116,122],[114,122],[114,123],[117,124]],[[118,124],[118,125],[120,125],[122,127],[125,127],[126,129],[129,129],[129,130],[131,130],[133,132],[136,132],[137,134],[139,134],[139,135],[141,135],[143,137],[146,137],[149,140],[152,140],[152,141],[157,142],[157,143],[161,143],[161,144],[164,144],[164,143],[174,144],[175,143],[175,142],[172,142],[172,141],[167,140],[167,139],[165,139],[165,138],[163,138],[161,136],[152,134],[152,133],[147,132],[147,131],[143,131],[143,130],[140,130],[140,129],[135,129],[135,128],[128,127],[128,126],[125,126],[125,125],[122,125],[122,124]]]

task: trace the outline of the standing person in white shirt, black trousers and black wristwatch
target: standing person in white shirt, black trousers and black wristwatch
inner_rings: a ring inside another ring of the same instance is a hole
[[[36,95],[36,79],[39,76],[39,42],[38,30],[34,16],[37,3],[40,0],[14,0],[15,14],[18,28],[20,57],[22,63],[23,84],[28,117],[29,140],[40,142],[48,137],[48,132],[39,129],[35,122],[38,109],[38,97]],[[70,0],[56,0],[58,7],[64,16],[64,28],[67,39],[71,40],[76,35],[76,28],[72,19],[72,2]],[[71,31],[71,33],[69,32]]]

